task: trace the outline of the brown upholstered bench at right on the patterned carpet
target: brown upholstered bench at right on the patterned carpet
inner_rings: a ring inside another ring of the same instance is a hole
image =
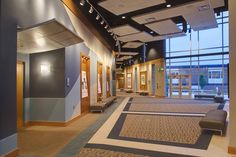
[[[226,129],[227,112],[224,110],[210,110],[199,121],[199,126],[203,130],[219,131],[221,136],[225,133]]]

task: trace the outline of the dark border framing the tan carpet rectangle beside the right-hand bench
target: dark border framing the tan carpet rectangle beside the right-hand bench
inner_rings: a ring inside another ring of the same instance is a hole
[[[212,138],[212,132],[210,131],[202,131],[202,134],[200,135],[200,137],[198,138],[195,144],[183,144],[183,143],[168,142],[168,141],[155,141],[155,140],[139,139],[139,138],[132,138],[132,137],[123,137],[123,136],[120,136],[120,132],[121,132],[121,129],[123,127],[123,124],[125,122],[127,115],[128,113],[122,113],[120,115],[115,126],[112,128],[110,134],[108,135],[108,138],[126,140],[126,141],[143,142],[143,143],[171,145],[171,146],[178,146],[178,147],[188,147],[188,148],[195,148],[195,149],[205,149],[205,150],[208,148],[211,138]],[[137,114],[137,115],[140,115],[140,114]],[[145,114],[142,114],[142,115],[145,115]],[[146,114],[146,115],[152,115],[152,114]],[[153,114],[153,116],[195,117],[195,116],[185,116],[185,115],[156,115],[156,114]]]

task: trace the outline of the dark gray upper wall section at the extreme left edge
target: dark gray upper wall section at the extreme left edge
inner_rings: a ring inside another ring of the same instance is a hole
[[[16,22],[6,3],[0,1],[0,140],[16,133]]]

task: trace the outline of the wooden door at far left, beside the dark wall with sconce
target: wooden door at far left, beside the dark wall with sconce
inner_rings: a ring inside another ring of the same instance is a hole
[[[24,81],[24,64],[17,62],[16,67],[16,111],[17,111],[17,129],[23,128],[23,81]]]

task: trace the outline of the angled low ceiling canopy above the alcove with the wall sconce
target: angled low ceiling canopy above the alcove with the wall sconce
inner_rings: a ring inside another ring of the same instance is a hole
[[[38,53],[83,42],[55,19],[17,32],[17,52]]]

